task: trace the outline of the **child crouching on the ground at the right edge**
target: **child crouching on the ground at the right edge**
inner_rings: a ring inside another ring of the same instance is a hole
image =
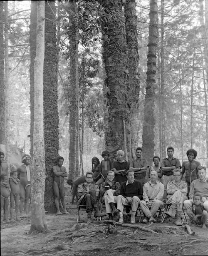
[[[195,222],[198,225],[202,224],[202,228],[206,229],[206,222],[208,218],[208,212],[204,209],[203,204],[201,204],[201,195],[195,194],[193,196],[193,205],[192,211],[187,210],[187,214],[191,221]]]

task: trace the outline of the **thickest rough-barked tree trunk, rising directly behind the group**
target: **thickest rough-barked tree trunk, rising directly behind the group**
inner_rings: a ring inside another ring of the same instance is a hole
[[[118,149],[130,157],[130,106],[128,99],[127,52],[122,14],[122,1],[102,1],[106,18],[102,22],[103,58],[106,70],[105,98],[108,109],[105,131],[106,149],[113,154]],[[124,131],[125,124],[125,131]],[[124,134],[126,133],[126,143]]]

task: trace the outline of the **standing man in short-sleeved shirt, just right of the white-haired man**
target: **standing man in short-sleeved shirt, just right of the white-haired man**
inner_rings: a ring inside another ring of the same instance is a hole
[[[142,158],[141,147],[136,148],[136,160],[133,160],[130,168],[134,171],[134,179],[138,180],[142,185],[144,185],[148,164],[146,160]]]

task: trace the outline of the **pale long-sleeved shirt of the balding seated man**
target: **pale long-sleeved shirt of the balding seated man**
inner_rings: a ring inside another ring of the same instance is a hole
[[[164,194],[164,185],[160,181],[156,181],[155,184],[152,184],[151,181],[148,181],[144,184],[143,187],[143,200],[152,201],[154,199],[162,200]]]

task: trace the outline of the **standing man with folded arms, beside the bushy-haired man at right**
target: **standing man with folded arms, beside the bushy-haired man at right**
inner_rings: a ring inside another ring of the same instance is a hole
[[[173,180],[173,170],[176,168],[181,168],[181,163],[180,161],[173,157],[174,154],[174,148],[173,147],[168,147],[167,148],[167,154],[168,157],[164,158],[161,164],[162,167],[162,172],[164,175],[164,189],[165,189],[165,193],[164,193],[164,198],[166,199],[167,196],[167,184],[169,181]]]

